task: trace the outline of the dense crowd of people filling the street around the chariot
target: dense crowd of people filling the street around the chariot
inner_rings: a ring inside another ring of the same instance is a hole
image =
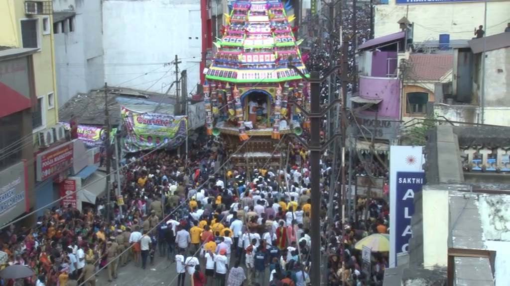
[[[343,33],[349,39],[352,75],[354,47],[370,37],[370,10],[357,9],[356,31],[349,28],[352,11],[345,11]],[[339,26],[337,22],[335,31]],[[330,56],[340,63],[337,32],[316,40],[307,67],[325,72]],[[327,83],[322,97],[325,102]],[[329,180],[338,178],[331,174],[330,156],[321,158],[320,170],[310,170],[308,152],[296,144],[288,154],[289,163],[279,168],[224,166],[215,171],[218,156],[228,155],[221,145],[212,140],[193,144],[188,160],[168,151],[126,157],[124,204],[114,203],[108,218],[106,200],[99,199],[81,211],[70,205],[48,209],[33,227],[11,224],[0,234],[2,251],[8,255],[2,269],[27,265],[35,275],[2,280],[2,285],[95,286],[101,269],[113,281],[128,263],[145,269],[155,259],[166,259],[177,272],[172,285],[192,280],[195,286],[304,286],[310,281],[311,176],[321,177],[322,264],[328,285],[381,285],[387,253],[372,253],[367,277],[361,251],[354,246],[370,234],[388,232],[388,204],[384,198],[355,197],[355,208],[342,220],[339,194],[333,205],[327,199]],[[360,162],[364,158],[356,158],[347,175],[367,175],[366,164]],[[381,164],[376,160],[371,164],[374,176],[387,178]],[[112,198],[115,188],[108,193]],[[329,208],[334,217],[328,219]]]

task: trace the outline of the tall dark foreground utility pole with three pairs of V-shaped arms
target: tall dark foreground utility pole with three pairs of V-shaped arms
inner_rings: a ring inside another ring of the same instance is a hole
[[[321,145],[320,143],[320,122],[322,117],[326,115],[326,113],[333,108],[336,104],[340,103],[341,100],[336,99],[333,102],[329,102],[329,105],[326,106],[321,111],[320,105],[320,84],[324,80],[327,79],[331,73],[335,72],[339,67],[335,66],[329,72],[327,72],[322,78],[319,78],[318,71],[310,72],[310,78],[307,78],[297,67],[289,65],[289,68],[293,69],[297,74],[299,74],[304,80],[309,81],[311,83],[311,106],[310,112],[306,111],[306,109],[299,105],[295,100],[289,100],[290,104],[293,104],[295,107],[299,108],[305,116],[310,118],[310,144],[304,141],[299,136],[294,136],[296,140],[300,142],[302,146],[310,150],[310,169],[320,170],[320,154],[321,152],[327,148],[327,146],[335,140],[338,135],[335,134],[330,136],[327,142]],[[311,176],[311,199],[312,199],[312,221],[311,221],[311,236],[312,236],[312,247],[310,249],[311,253],[317,253],[312,255],[312,266],[310,270],[311,283],[312,285],[320,285],[321,280],[321,223],[320,223],[320,208],[321,208],[321,191],[320,191],[320,176],[317,174]]]

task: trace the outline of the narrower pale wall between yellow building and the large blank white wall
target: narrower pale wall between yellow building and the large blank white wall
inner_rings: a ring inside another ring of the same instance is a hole
[[[74,31],[55,34],[57,95],[63,106],[74,95],[104,85],[101,0],[54,0],[53,8],[76,13]]]

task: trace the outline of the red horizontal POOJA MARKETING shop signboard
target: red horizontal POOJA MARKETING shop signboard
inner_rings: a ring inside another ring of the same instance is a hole
[[[44,181],[72,166],[73,142],[67,142],[53,149],[37,154],[37,181]]]

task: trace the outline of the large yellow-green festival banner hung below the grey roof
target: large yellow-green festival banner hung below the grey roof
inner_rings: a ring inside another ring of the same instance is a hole
[[[155,148],[172,149],[185,140],[188,129],[186,116],[137,112],[121,108],[122,130],[126,132],[124,152],[138,152]]]

